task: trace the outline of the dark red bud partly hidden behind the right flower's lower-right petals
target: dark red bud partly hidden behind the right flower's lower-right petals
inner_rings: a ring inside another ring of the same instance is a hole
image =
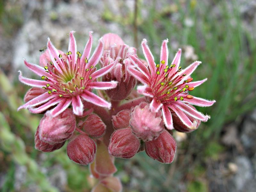
[[[196,109],[196,108],[195,108],[194,106],[192,106],[192,105],[189,105],[189,106],[190,106],[191,108]],[[172,121],[173,121],[173,127],[174,127],[174,129],[177,130],[177,131],[179,131],[179,132],[192,132],[192,131],[195,131],[195,130],[199,127],[201,121],[198,120],[198,119],[196,119],[196,118],[194,118],[194,117],[191,117],[191,116],[189,116],[189,115],[187,115],[187,114],[185,114],[185,115],[189,118],[189,120],[190,120],[191,122],[196,121],[196,128],[195,128],[195,129],[190,129],[190,128],[188,128],[185,124],[182,123],[182,121],[181,121],[180,118],[176,115],[176,113],[172,113]]]

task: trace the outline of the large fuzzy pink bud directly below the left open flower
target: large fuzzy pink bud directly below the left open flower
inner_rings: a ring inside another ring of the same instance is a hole
[[[39,124],[40,139],[47,143],[61,143],[72,136],[76,129],[76,116],[71,109],[52,117],[49,112],[44,114]]]

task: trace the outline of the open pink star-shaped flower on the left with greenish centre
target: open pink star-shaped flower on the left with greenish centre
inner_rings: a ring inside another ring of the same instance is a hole
[[[103,52],[102,38],[90,57],[92,32],[89,33],[90,38],[85,45],[83,54],[76,50],[76,40],[73,33],[71,31],[69,34],[68,52],[65,55],[58,51],[48,39],[47,51],[40,58],[41,66],[24,60],[25,65],[42,80],[25,78],[20,72],[20,81],[33,87],[44,88],[45,92],[20,106],[18,110],[29,108],[32,113],[41,113],[57,105],[50,113],[52,116],[58,116],[72,104],[74,114],[81,116],[84,110],[81,98],[101,107],[111,107],[110,103],[92,93],[92,88],[106,90],[116,87],[116,81],[96,81],[98,77],[108,73],[116,62],[96,70],[95,65],[100,61]],[[43,65],[44,67],[42,67]],[[35,108],[40,104],[43,105]]]

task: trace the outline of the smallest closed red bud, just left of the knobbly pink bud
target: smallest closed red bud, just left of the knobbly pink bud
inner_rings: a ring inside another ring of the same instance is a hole
[[[116,129],[124,129],[129,126],[129,121],[131,118],[129,109],[124,109],[119,111],[116,115],[112,116],[113,127]]]

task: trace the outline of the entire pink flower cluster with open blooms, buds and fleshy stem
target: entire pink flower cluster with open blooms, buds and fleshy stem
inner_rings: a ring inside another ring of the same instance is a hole
[[[78,164],[90,164],[92,175],[100,180],[93,191],[122,190],[113,176],[114,157],[131,158],[145,150],[159,162],[172,163],[177,144],[171,130],[196,130],[210,116],[193,105],[208,107],[215,101],[191,95],[207,80],[193,81],[191,77],[201,62],[182,69],[181,50],[169,62],[167,43],[163,41],[160,60],[155,62],[146,39],[141,43],[146,61],[116,34],[100,38],[92,56],[92,32],[83,52],[77,51],[73,31],[66,53],[48,39],[39,65],[24,60],[40,80],[26,78],[21,72],[19,76],[33,88],[18,110],[44,114],[35,134],[35,148],[51,152],[69,140],[68,157]],[[143,96],[127,101],[136,84]]]

